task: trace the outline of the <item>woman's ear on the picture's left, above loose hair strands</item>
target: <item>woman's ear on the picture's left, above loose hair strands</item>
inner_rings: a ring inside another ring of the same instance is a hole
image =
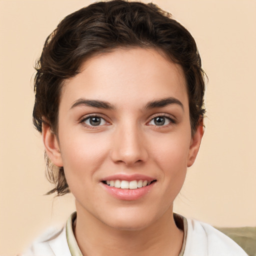
[[[52,132],[49,124],[44,122],[42,123],[42,140],[45,151],[51,162],[58,167],[63,166],[56,135]]]

